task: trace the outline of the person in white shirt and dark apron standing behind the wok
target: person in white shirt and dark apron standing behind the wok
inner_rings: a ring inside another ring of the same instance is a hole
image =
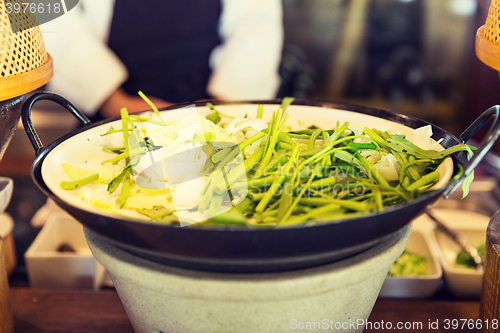
[[[203,99],[270,99],[279,88],[280,0],[80,0],[41,27],[48,89],[93,117]]]

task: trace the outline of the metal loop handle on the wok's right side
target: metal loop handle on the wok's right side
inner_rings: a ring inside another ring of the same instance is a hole
[[[500,136],[500,105],[495,105],[484,111],[461,135],[460,140],[463,143],[469,141],[486,123],[493,119],[488,135],[481,141],[479,147],[474,152],[474,156],[464,166],[464,173],[458,179],[453,181],[445,190],[443,197],[447,199],[464,181],[464,179],[474,171],[478,164],[483,160],[486,154],[495,144]]]

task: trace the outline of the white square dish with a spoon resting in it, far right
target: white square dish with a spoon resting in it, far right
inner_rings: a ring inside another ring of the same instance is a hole
[[[459,209],[433,209],[433,212],[447,226],[463,233],[475,247],[486,242],[486,228],[490,217]],[[450,293],[460,299],[479,299],[483,272],[458,265],[455,261],[460,247],[443,232],[436,228],[432,237],[439,247],[439,259]]]

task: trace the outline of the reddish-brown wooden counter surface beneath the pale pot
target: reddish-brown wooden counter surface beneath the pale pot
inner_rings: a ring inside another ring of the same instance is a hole
[[[11,287],[11,303],[16,333],[132,333],[125,310],[113,289],[103,291],[46,290]],[[414,329],[404,332],[477,332],[445,329],[445,320],[474,319],[479,316],[479,302],[449,300],[378,299],[365,332],[383,332],[376,323],[392,325],[411,323]],[[429,322],[439,321],[438,329]],[[415,323],[422,323],[416,326]],[[409,324],[407,324],[409,325]],[[237,332],[235,332],[237,333]]]

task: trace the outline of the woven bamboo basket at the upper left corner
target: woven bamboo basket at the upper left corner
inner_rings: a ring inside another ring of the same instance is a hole
[[[0,101],[36,90],[52,78],[52,58],[34,15],[12,15],[20,28],[13,32],[5,4],[16,2],[0,0]]]

